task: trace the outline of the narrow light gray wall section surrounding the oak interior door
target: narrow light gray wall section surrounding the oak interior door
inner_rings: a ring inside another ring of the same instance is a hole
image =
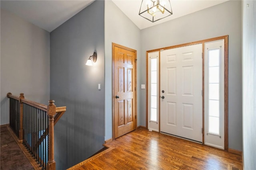
[[[112,2],[105,1],[105,140],[112,138],[112,42],[137,50],[137,106],[140,125],[140,29]]]

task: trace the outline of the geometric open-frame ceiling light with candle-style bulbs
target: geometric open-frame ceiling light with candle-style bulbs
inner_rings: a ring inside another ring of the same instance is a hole
[[[142,0],[139,15],[155,22],[172,15],[170,0]]]

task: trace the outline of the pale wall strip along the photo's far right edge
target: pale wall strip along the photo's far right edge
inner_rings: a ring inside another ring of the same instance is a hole
[[[249,4],[249,8],[247,8]],[[243,158],[244,169],[256,169],[256,1],[242,1],[243,26]]]

